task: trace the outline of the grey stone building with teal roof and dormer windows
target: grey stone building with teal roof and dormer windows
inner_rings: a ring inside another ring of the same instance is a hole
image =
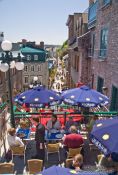
[[[21,48],[24,55],[25,67],[23,70],[23,87],[24,90],[29,89],[30,85],[37,83],[48,87],[48,62],[47,54],[44,49],[25,46]],[[37,77],[35,81],[34,77]]]

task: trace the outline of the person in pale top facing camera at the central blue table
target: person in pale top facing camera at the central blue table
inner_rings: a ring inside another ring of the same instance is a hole
[[[61,123],[59,120],[57,120],[57,116],[53,115],[52,118],[47,122],[46,126],[48,131],[54,130],[60,130],[61,129]]]

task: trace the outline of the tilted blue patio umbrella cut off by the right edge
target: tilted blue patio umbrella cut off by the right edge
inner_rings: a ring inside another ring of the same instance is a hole
[[[118,161],[118,118],[97,120],[90,139],[105,156]]]

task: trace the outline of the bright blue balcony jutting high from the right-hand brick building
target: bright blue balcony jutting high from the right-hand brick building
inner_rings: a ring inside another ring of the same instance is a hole
[[[96,1],[89,7],[89,13],[88,13],[88,28],[89,29],[95,26],[96,16],[97,16],[97,6],[98,6],[98,1]]]

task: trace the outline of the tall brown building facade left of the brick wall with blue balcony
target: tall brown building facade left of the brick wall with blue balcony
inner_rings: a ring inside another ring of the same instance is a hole
[[[87,13],[74,13],[69,15],[68,26],[68,87],[76,87],[78,82],[88,84],[88,15]],[[87,43],[87,44],[86,44]]]

